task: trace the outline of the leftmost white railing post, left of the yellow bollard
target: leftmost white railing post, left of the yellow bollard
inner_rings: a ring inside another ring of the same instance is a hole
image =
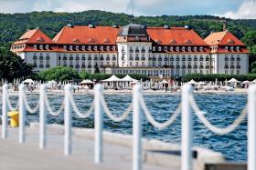
[[[3,94],[2,94],[2,138],[7,138],[7,125],[8,125],[8,105],[7,105],[7,97],[8,97],[8,85],[3,85]]]

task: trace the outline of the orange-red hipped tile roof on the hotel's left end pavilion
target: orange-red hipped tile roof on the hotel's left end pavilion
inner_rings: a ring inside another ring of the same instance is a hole
[[[28,30],[13,45],[21,44],[54,44],[53,41],[39,29]]]

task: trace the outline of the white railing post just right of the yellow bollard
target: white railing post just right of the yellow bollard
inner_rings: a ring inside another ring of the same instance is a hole
[[[24,105],[25,86],[23,84],[18,86],[18,104],[19,104],[19,135],[18,142],[25,143],[25,124],[26,124],[26,110]]]

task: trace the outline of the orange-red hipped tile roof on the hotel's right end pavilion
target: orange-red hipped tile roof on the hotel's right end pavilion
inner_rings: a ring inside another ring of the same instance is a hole
[[[208,45],[244,45],[235,35],[229,31],[212,33],[205,38]]]

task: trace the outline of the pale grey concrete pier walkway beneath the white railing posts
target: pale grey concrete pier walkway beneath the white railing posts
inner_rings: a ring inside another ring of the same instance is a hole
[[[63,134],[48,133],[48,147],[38,148],[37,129],[26,129],[26,143],[18,144],[18,129],[9,128],[8,139],[0,139],[1,170],[132,170],[132,148],[103,143],[103,163],[93,163],[93,141],[73,135],[73,154],[63,155]],[[171,164],[171,163],[170,163]],[[144,163],[148,170],[177,170]]]

